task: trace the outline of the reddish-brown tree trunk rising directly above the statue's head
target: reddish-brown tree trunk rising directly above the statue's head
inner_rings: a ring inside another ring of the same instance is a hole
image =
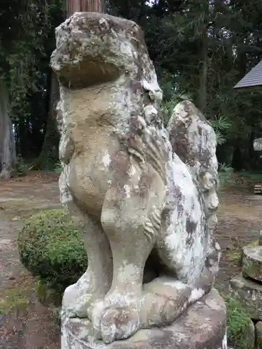
[[[75,12],[105,13],[105,0],[67,0],[67,17]]]

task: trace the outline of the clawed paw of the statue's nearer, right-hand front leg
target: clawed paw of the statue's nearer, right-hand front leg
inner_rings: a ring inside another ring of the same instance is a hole
[[[101,317],[101,339],[112,343],[117,339],[126,339],[140,328],[138,309],[133,306],[109,306]]]

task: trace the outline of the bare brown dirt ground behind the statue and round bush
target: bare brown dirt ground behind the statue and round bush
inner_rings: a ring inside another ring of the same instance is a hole
[[[227,288],[240,272],[240,248],[259,238],[262,196],[253,186],[222,188],[216,237],[222,248],[217,285]],[[54,309],[41,306],[35,280],[22,267],[17,234],[22,220],[36,211],[60,207],[56,174],[32,172],[27,177],[0,181],[0,349],[59,349],[59,326]],[[3,330],[2,330],[3,329]]]

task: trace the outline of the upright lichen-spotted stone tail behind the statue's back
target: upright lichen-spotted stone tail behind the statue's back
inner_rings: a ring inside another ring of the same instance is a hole
[[[219,206],[216,134],[203,113],[190,101],[182,101],[175,106],[168,131],[173,151],[188,165],[203,193],[212,248]],[[218,267],[218,260],[213,260],[213,265]]]

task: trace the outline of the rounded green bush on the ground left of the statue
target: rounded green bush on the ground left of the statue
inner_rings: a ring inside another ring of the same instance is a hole
[[[87,269],[81,234],[64,210],[31,216],[20,231],[18,249],[24,267],[59,292]]]

